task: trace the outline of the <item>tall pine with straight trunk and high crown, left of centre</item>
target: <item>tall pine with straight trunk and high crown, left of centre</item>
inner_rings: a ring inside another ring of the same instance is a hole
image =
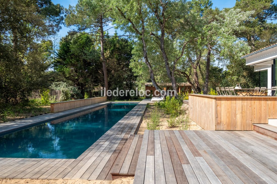
[[[106,66],[106,59],[104,55],[105,49],[105,37],[109,36],[105,34],[104,30],[109,25],[110,7],[105,0],[78,0],[75,7],[69,6],[67,9],[65,23],[67,26],[75,26],[77,29],[73,32],[82,32],[82,34],[89,34],[94,37],[95,40],[100,41],[100,59],[103,67],[104,74],[104,87],[106,91],[109,89],[108,84],[108,72]],[[88,31],[85,33],[84,31]],[[112,38],[114,36],[109,36]],[[117,36],[115,36],[117,37]]]

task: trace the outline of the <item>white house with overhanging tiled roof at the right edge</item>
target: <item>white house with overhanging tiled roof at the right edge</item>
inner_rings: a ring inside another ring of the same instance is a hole
[[[277,85],[277,43],[241,57],[241,59],[244,58],[246,59],[246,65],[254,66],[254,71],[259,72],[260,87],[270,89]]]

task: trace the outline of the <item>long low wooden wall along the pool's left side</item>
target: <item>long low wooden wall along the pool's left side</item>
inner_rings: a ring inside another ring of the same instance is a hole
[[[51,108],[51,112],[53,113],[53,112],[65,111],[68,109],[74,109],[77,107],[88,106],[91,104],[96,104],[96,103],[105,102],[105,101],[107,101],[106,96],[96,97],[96,98],[79,99],[79,100],[71,100],[71,101],[51,103],[50,108]]]

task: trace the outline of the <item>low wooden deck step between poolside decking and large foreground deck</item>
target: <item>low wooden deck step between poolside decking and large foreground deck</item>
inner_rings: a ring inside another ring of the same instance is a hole
[[[142,139],[143,135],[130,135],[112,165],[112,180],[135,175]]]

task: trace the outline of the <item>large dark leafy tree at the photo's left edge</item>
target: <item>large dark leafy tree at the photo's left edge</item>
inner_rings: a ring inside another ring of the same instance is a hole
[[[52,1],[0,1],[0,101],[18,103],[42,87],[51,57],[47,36],[60,29]]]

